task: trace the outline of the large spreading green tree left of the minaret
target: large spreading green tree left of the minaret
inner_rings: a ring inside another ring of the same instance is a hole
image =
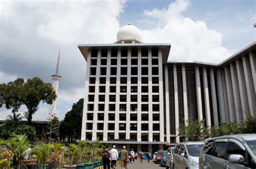
[[[0,107],[5,104],[6,109],[17,112],[21,105],[27,110],[25,116],[29,124],[32,123],[32,115],[38,110],[40,102],[51,104],[56,99],[55,91],[50,83],[44,83],[41,78],[22,78],[11,81],[7,84],[0,84]]]

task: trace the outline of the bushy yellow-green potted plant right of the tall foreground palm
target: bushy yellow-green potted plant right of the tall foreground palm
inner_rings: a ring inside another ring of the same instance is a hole
[[[48,166],[50,150],[51,150],[51,145],[42,144],[42,145],[37,145],[35,147],[35,150],[32,151],[32,154],[35,154],[37,156],[39,168],[46,169],[46,167]]]

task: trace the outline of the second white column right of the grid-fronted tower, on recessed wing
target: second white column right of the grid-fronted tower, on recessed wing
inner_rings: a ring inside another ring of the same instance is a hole
[[[177,82],[177,67],[173,65],[173,86],[174,86],[174,106],[175,106],[175,130],[176,130],[176,143],[180,142],[179,139],[179,102],[178,102],[178,82]],[[159,145],[160,148],[161,145]],[[162,149],[160,149],[162,150]]]

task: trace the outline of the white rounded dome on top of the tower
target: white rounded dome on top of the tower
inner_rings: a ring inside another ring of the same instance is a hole
[[[125,25],[121,27],[117,33],[117,41],[137,41],[141,42],[142,41],[142,34],[140,30],[131,24]]]

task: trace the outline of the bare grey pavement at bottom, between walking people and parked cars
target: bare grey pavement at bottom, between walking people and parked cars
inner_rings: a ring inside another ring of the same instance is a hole
[[[120,169],[120,165],[118,165],[116,167],[116,169]],[[152,162],[152,160],[150,161],[150,163],[147,163],[146,160],[143,160],[142,163],[140,163],[139,161],[135,161],[135,163],[131,164],[129,163],[127,165],[127,168],[129,169],[163,169],[165,167],[161,167],[160,164],[155,164]]]

